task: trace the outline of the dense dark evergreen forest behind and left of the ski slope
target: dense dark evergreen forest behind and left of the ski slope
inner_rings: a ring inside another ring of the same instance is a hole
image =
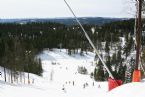
[[[133,32],[133,20],[83,26],[97,49],[102,49],[101,42],[117,43],[120,36]],[[0,46],[0,66],[11,70],[12,77],[20,71],[41,75],[41,60],[36,55],[44,48],[66,48],[69,55],[79,49],[81,55],[92,50],[78,25],[50,22],[1,23]]]

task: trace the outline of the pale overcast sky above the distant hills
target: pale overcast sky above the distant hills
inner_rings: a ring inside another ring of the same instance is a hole
[[[133,0],[66,0],[78,17],[133,17]],[[0,0],[0,18],[72,17],[64,0]]]

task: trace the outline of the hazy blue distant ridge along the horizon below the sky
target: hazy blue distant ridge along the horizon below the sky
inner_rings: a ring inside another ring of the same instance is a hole
[[[101,25],[114,21],[127,20],[127,18],[103,18],[103,17],[80,17],[78,18],[82,24]],[[31,23],[31,22],[56,22],[66,25],[76,25],[74,18],[32,18],[32,19],[0,19],[0,23]]]

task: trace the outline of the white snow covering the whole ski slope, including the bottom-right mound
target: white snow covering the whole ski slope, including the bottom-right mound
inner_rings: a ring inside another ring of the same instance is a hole
[[[107,82],[95,82],[94,53],[84,56],[66,54],[66,50],[45,50],[42,59],[42,77],[30,74],[31,84],[5,83],[0,77],[0,97],[144,97],[145,83],[130,83],[108,92]],[[86,67],[87,75],[79,74],[78,66]],[[0,69],[3,74],[3,68]],[[27,73],[25,73],[27,75]],[[34,83],[32,83],[34,81]],[[27,83],[27,79],[26,79]]]

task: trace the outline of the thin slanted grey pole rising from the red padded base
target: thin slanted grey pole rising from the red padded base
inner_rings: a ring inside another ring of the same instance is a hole
[[[81,29],[83,30],[86,38],[88,39],[90,45],[92,46],[92,48],[95,50],[95,53],[98,55],[100,61],[102,62],[102,64],[104,65],[105,69],[107,70],[107,72],[109,73],[109,76],[114,79],[114,76],[112,75],[112,73],[110,72],[110,70],[108,69],[107,65],[105,64],[105,62],[103,61],[103,59],[101,58],[100,54],[98,53],[96,47],[94,46],[93,42],[91,41],[90,37],[88,36],[87,32],[85,31],[84,27],[82,26],[82,24],[80,23],[80,21],[78,20],[77,16],[75,15],[74,11],[72,10],[72,8],[70,7],[70,5],[67,3],[66,0],[64,0],[64,2],[66,3],[67,7],[69,8],[69,10],[71,11],[71,13],[73,14],[73,16],[75,17],[75,20],[77,21],[77,23],[79,24],[79,26],[81,27]]]

